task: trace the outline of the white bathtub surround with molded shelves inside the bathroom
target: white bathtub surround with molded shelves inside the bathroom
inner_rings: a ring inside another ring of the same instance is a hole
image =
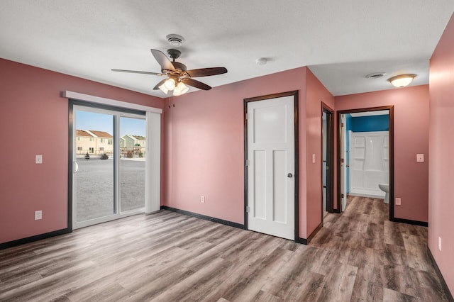
[[[389,132],[350,132],[350,195],[385,198],[389,184]]]

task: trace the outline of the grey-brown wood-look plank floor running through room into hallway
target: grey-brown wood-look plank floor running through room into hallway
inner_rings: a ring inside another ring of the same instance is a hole
[[[0,301],[448,301],[427,228],[380,199],[328,214],[309,246],[160,211],[0,250]]]

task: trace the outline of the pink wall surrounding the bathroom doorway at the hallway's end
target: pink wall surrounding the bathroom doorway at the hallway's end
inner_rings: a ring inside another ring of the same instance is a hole
[[[336,96],[336,111],[394,105],[394,217],[428,221],[428,85]],[[337,133],[336,133],[337,135]],[[416,162],[423,153],[425,162]]]

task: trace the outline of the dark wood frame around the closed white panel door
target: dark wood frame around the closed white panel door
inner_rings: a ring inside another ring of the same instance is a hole
[[[277,99],[284,96],[294,97],[294,241],[299,241],[299,114],[298,114],[298,90],[282,92],[279,94],[267,94],[243,99],[243,127],[244,127],[244,228],[248,230],[248,103],[252,101],[264,101]]]

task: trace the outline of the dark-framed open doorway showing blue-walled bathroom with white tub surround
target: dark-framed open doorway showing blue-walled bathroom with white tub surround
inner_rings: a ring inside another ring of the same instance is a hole
[[[394,107],[338,111],[338,198],[345,211],[348,197],[389,202],[394,218]]]

